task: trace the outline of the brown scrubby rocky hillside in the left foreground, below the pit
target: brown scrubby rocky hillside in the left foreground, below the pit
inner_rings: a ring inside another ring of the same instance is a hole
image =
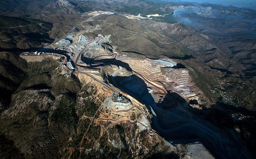
[[[143,158],[165,152],[177,158],[175,147],[138,127],[137,121],[143,117],[138,109],[118,114],[111,101],[112,91],[101,83],[83,74],[77,75],[79,80],[60,75],[58,70],[62,68],[52,59],[29,62],[28,66],[28,77],[0,117],[0,134],[6,141],[1,146],[10,143],[16,151],[1,157]],[[108,98],[108,104],[103,102]],[[123,115],[125,118],[117,122],[115,118]]]

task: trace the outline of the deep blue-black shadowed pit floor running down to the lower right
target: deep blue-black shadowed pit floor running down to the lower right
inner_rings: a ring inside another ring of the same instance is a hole
[[[200,141],[217,158],[251,158],[237,132],[218,128],[197,117],[189,107],[177,102],[173,94],[168,93],[162,103],[173,101],[176,106],[163,109],[149,93],[144,80],[136,75],[109,77],[109,82],[144,103],[153,114],[152,127],[167,140],[180,144]]]

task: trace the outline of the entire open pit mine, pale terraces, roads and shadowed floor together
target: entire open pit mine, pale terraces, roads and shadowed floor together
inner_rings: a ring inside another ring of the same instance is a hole
[[[101,14],[114,13],[90,13],[91,16]],[[191,113],[190,110],[209,108],[212,103],[196,87],[187,68],[167,57],[136,59],[120,55],[112,46],[112,35],[84,35],[99,29],[96,25],[79,32],[69,32],[45,47],[44,52],[27,52],[22,57],[29,61],[40,60],[46,55],[54,56],[56,60],[62,60],[64,75],[69,76],[72,72],[80,81],[93,83],[98,94],[105,99],[101,101],[102,111],[95,120],[101,129],[104,128],[102,123],[136,123],[138,131],[148,131],[152,139],[159,135],[169,145],[188,144],[189,154],[204,158],[218,154],[225,158],[230,152],[234,157],[248,155],[240,139],[236,139],[237,134]],[[48,53],[48,49],[59,53]],[[113,142],[113,145],[118,144]],[[172,148],[177,150],[177,147]],[[214,152],[218,154],[212,154]]]

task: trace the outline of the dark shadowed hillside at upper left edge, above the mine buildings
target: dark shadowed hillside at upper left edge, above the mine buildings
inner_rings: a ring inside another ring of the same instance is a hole
[[[0,16],[0,21],[0,51],[33,48],[53,40],[46,33],[52,29],[50,23],[8,16]]]

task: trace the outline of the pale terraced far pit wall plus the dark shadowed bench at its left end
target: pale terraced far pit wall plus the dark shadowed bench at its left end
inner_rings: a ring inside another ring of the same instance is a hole
[[[118,60],[95,60],[87,57],[82,57],[82,60],[95,66],[105,65],[100,73],[103,79],[105,76],[139,76],[148,84],[148,89],[158,94],[154,95],[155,101],[162,99],[167,91],[170,91],[182,96],[192,107],[199,109],[202,109],[202,106],[210,107],[206,96],[192,82],[188,70],[178,68],[176,63],[170,59],[132,59],[125,56],[119,57]],[[172,68],[173,66],[176,68]],[[190,100],[196,100],[196,102],[189,102]]]

